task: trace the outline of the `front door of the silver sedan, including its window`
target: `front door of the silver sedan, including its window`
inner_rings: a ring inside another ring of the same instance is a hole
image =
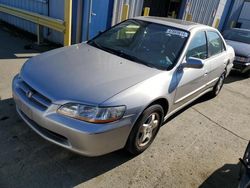
[[[175,71],[178,86],[175,94],[174,109],[182,106],[206,89],[209,81],[210,63],[207,62],[207,41],[204,31],[197,32],[189,44],[186,59],[195,57],[202,59],[204,66],[201,69],[182,68]]]

